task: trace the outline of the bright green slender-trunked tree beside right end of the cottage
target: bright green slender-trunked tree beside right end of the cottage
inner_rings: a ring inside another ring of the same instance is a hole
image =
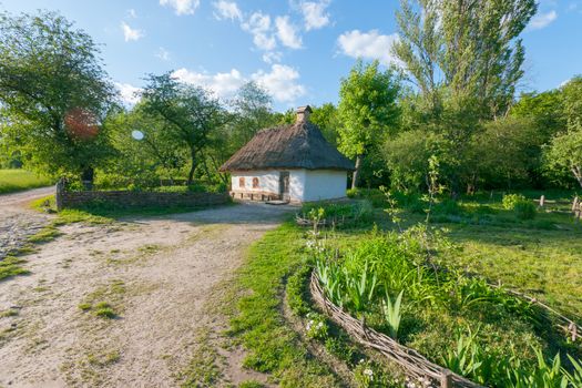
[[[356,159],[353,188],[358,185],[363,157],[398,122],[399,79],[392,70],[382,72],[378,67],[378,61],[367,65],[358,61],[339,90],[339,150]]]

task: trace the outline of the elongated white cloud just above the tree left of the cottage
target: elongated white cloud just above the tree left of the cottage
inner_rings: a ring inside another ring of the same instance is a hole
[[[246,79],[236,69],[228,73],[197,73],[187,69],[178,69],[172,73],[181,82],[211,90],[221,99],[232,98],[238,88],[245,84]]]

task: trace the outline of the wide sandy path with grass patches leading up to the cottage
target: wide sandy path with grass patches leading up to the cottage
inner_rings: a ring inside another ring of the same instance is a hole
[[[204,303],[283,207],[238,205],[101,226],[68,225],[0,283],[0,387],[171,387]],[[108,302],[119,317],[83,312]],[[211,325],[212,326],[212,325]]]

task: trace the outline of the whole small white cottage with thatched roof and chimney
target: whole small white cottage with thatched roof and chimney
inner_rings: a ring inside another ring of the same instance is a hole
[[[292,125],[258,132],[221,171],[231,173],[231,196],[293,203],[346,196],[354,163],[309,122],[309,106],[297,110]]]

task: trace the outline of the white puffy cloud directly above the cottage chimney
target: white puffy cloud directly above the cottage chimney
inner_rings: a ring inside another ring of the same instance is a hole
[[[305,86],[297,83],[299,72],[285,64],[272,65],[268,73],[259,70],[252,79],[278,102],[292,103],[306,93]]]

